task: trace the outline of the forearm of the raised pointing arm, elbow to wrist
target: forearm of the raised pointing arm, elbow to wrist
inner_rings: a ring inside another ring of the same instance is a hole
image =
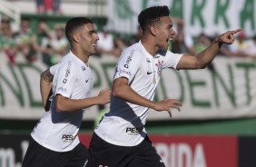
[[[221,46],[222,42],[219,40],[219,38],[216,38],[209,47],[197,54],[198,68],[205,68],[208,64],[210,64]]]

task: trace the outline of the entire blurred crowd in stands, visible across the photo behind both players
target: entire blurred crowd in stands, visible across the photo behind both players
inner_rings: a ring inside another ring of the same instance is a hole
[[[214,36],[199,34],[190,36],[184,32],[182,19],[173,18],[173,28],[176,32],[170,44],[170,50],[179,54],[198,54],[211,44]],[[118,34],[103,27],[98,32],[100,40],[97,43],[98,54],[118,57],[125,47],[140,40],[142,31],[137,27],[136,34]],[[69,44],[64,34],[64,25],[56,24],[49,28],[47,22],[38,21],[35,30],[31,29],[29,18],[21,20],[18,31],[14,31],[11,21],[2,17],[0,23],[0,52],[4,53],[10,64],[15,64],[17,56],[23,56],[25,61],[33,64],[43,61],[47,66],[56,64],[69,51]],[[234,44],[223,44],[218,55],[227,57],[256,58],[256,34],[248,38],[245,32],[235,36]]]

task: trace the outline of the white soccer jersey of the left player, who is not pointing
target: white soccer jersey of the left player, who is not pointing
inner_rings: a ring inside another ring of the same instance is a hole
[[[78,130],[84,110],[57,113],[54,96],[61,94],[69,99],[84,99],[91,96],[92,72],[89,66],[72,52],[66,54],[50,72],[54,74],[53,95],[50,110],[45,112],[31,133],[34,141],[55,152],[68,152],[79,143]]]

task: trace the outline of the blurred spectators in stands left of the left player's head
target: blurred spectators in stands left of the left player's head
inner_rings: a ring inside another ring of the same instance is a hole
[[[56,64],[69,48],[64,25],[56,24],[50,29],[42,19],[38,21],[36,30],[30,27],[30,20],[23,18],[19,30],[13,31],[10,19],[3,17],[0,25],[0,52],[7,56],[10,64],[15,64],[18,55],[24,56],[28,63],[42,60],[47,66]]]

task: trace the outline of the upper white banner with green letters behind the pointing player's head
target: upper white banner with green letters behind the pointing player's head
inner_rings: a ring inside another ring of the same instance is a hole
[[[185,32],[196,36],[220,34],[241,28],[252,36],[256,31],[255,0],[109,0],[109,27],[120,33],[136,33],[137,16],[146,7],[167,5],[171,16],[182,17]],[[130,9],[129,12],[127,9]],[[123,12],[125,11],[125,13]],[[173,22],[174,23],[174,22]],[[175,25],[175,23],[174,23]]]

